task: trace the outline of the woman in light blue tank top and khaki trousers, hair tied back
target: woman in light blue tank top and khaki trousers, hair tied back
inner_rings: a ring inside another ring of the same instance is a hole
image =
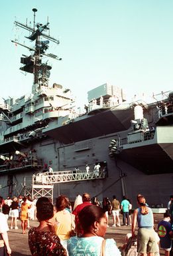
[[[133,213],[132,236],[135,237],[135,227],[138,223],[137,251],[141,256],[154,256],[157,251],[157,241],[154,231],[154,218],[152,210],[146,204],[143,195],[137,196],[139,208]]]

